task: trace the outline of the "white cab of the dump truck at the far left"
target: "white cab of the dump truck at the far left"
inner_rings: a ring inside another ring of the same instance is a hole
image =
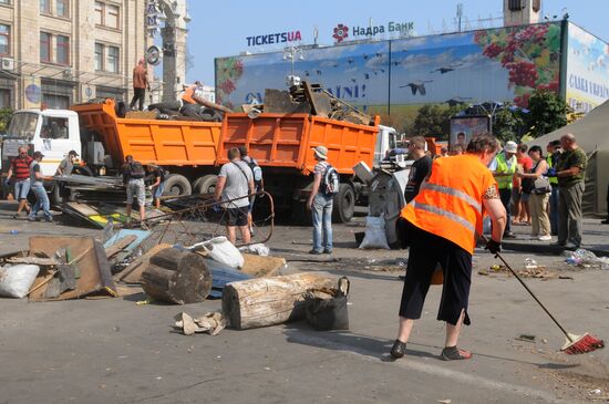
[[[42,152],[42,174],[51,177],[70,151],[81,151],[79,116],[66,110],[23,110],[13,114],[2,144],[2,167],[8,172],[10,162],[20,146],[30,154]]]

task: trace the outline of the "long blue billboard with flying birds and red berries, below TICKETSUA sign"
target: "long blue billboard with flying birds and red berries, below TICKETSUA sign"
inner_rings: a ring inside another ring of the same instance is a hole
[[[412,122],[424,104],[510,101],[526,107],[536,87],[558,91],[560,23],[307,48],[293,72],[369,113]],[[238,106],[286,89],[283,52],[216,59],[218,102]]]

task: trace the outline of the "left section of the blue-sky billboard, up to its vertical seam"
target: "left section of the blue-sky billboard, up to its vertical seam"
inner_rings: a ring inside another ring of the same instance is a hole
[[[293,74],[363,110],[386,106],[388,50],[386,41],[301,49],[293,58]],[[265,89],[287,89],[291,72],[283,52],[216,59],[216,100],[231,106],[264,102]]]

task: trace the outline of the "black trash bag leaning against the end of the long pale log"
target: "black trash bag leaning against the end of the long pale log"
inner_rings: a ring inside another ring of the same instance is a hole
[[[339,279],[337,294],[331,299],[307,293],[304,297],[304,312],[307,321],[318,331],[349,330],[349,312],[347,298],[349,294],[349,279]]]

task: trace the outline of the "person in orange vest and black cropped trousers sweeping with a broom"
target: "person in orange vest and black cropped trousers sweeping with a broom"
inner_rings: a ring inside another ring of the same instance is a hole
[[[414,201],[401,213],[405,219],[410,253],[400,305],[400,331],[391,350],[395,359],[406,352],[414,320],[421,318],[425,296],[437,265],[444,283],[437,320],[446,322],[442,358],[446,361],[469,359],[472,353],[457,349],[463,323],[469,324],[467,304],[472,283],[472,255],[476,234],[482,235],[483,216],[493,221],[493,236],[486,249],[500,251],[506,225],[497,183],[487,165],[499,149],[488,134],[476,135],[466,154],[437,158]],[[404,232],[404,231],[402,231]]]

